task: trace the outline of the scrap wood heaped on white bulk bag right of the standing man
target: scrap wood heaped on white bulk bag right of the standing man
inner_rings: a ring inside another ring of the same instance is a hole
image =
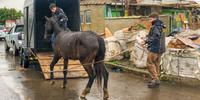
[[[162,57],[165,74],[200,79],[200,30],[187,30],[166,38]]]

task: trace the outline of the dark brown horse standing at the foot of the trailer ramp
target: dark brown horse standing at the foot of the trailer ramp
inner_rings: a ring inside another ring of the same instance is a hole
[[[68,59],[79,60],[89,76],[89,81],[85,90],[81,94],[81,98],[90,92],[95,77],[97,77],[98,86],[101,86],[102,77],[104,78],[104,98],[108,98],[108,76],[109,73],[104,65],[105,58],[105,42],[104,39],[94,32],[72,32],[69,29],[63,30],[56,21],[56,18],[46,17],[44,38],[54,32],[56,34],[53,46],[54,57],[50,64],[50,79],[53,81],[53,68],[58,60],[64,59],[64,82],[63,88],[67,83],[67,66]]]

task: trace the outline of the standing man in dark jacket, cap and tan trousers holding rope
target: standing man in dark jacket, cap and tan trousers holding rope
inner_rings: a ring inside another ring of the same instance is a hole
[[[159,73],[160,73],[160,61],[161,56],[165,52],[165,35],[163,28],[165,28],[163,22],[159,20],[157,13],[152,13],[149,16],[152,23],[149,34],[147,35],[147,68],[150,72],[152,80],[149,82],[148,87],[154,88],[160,85]]]

